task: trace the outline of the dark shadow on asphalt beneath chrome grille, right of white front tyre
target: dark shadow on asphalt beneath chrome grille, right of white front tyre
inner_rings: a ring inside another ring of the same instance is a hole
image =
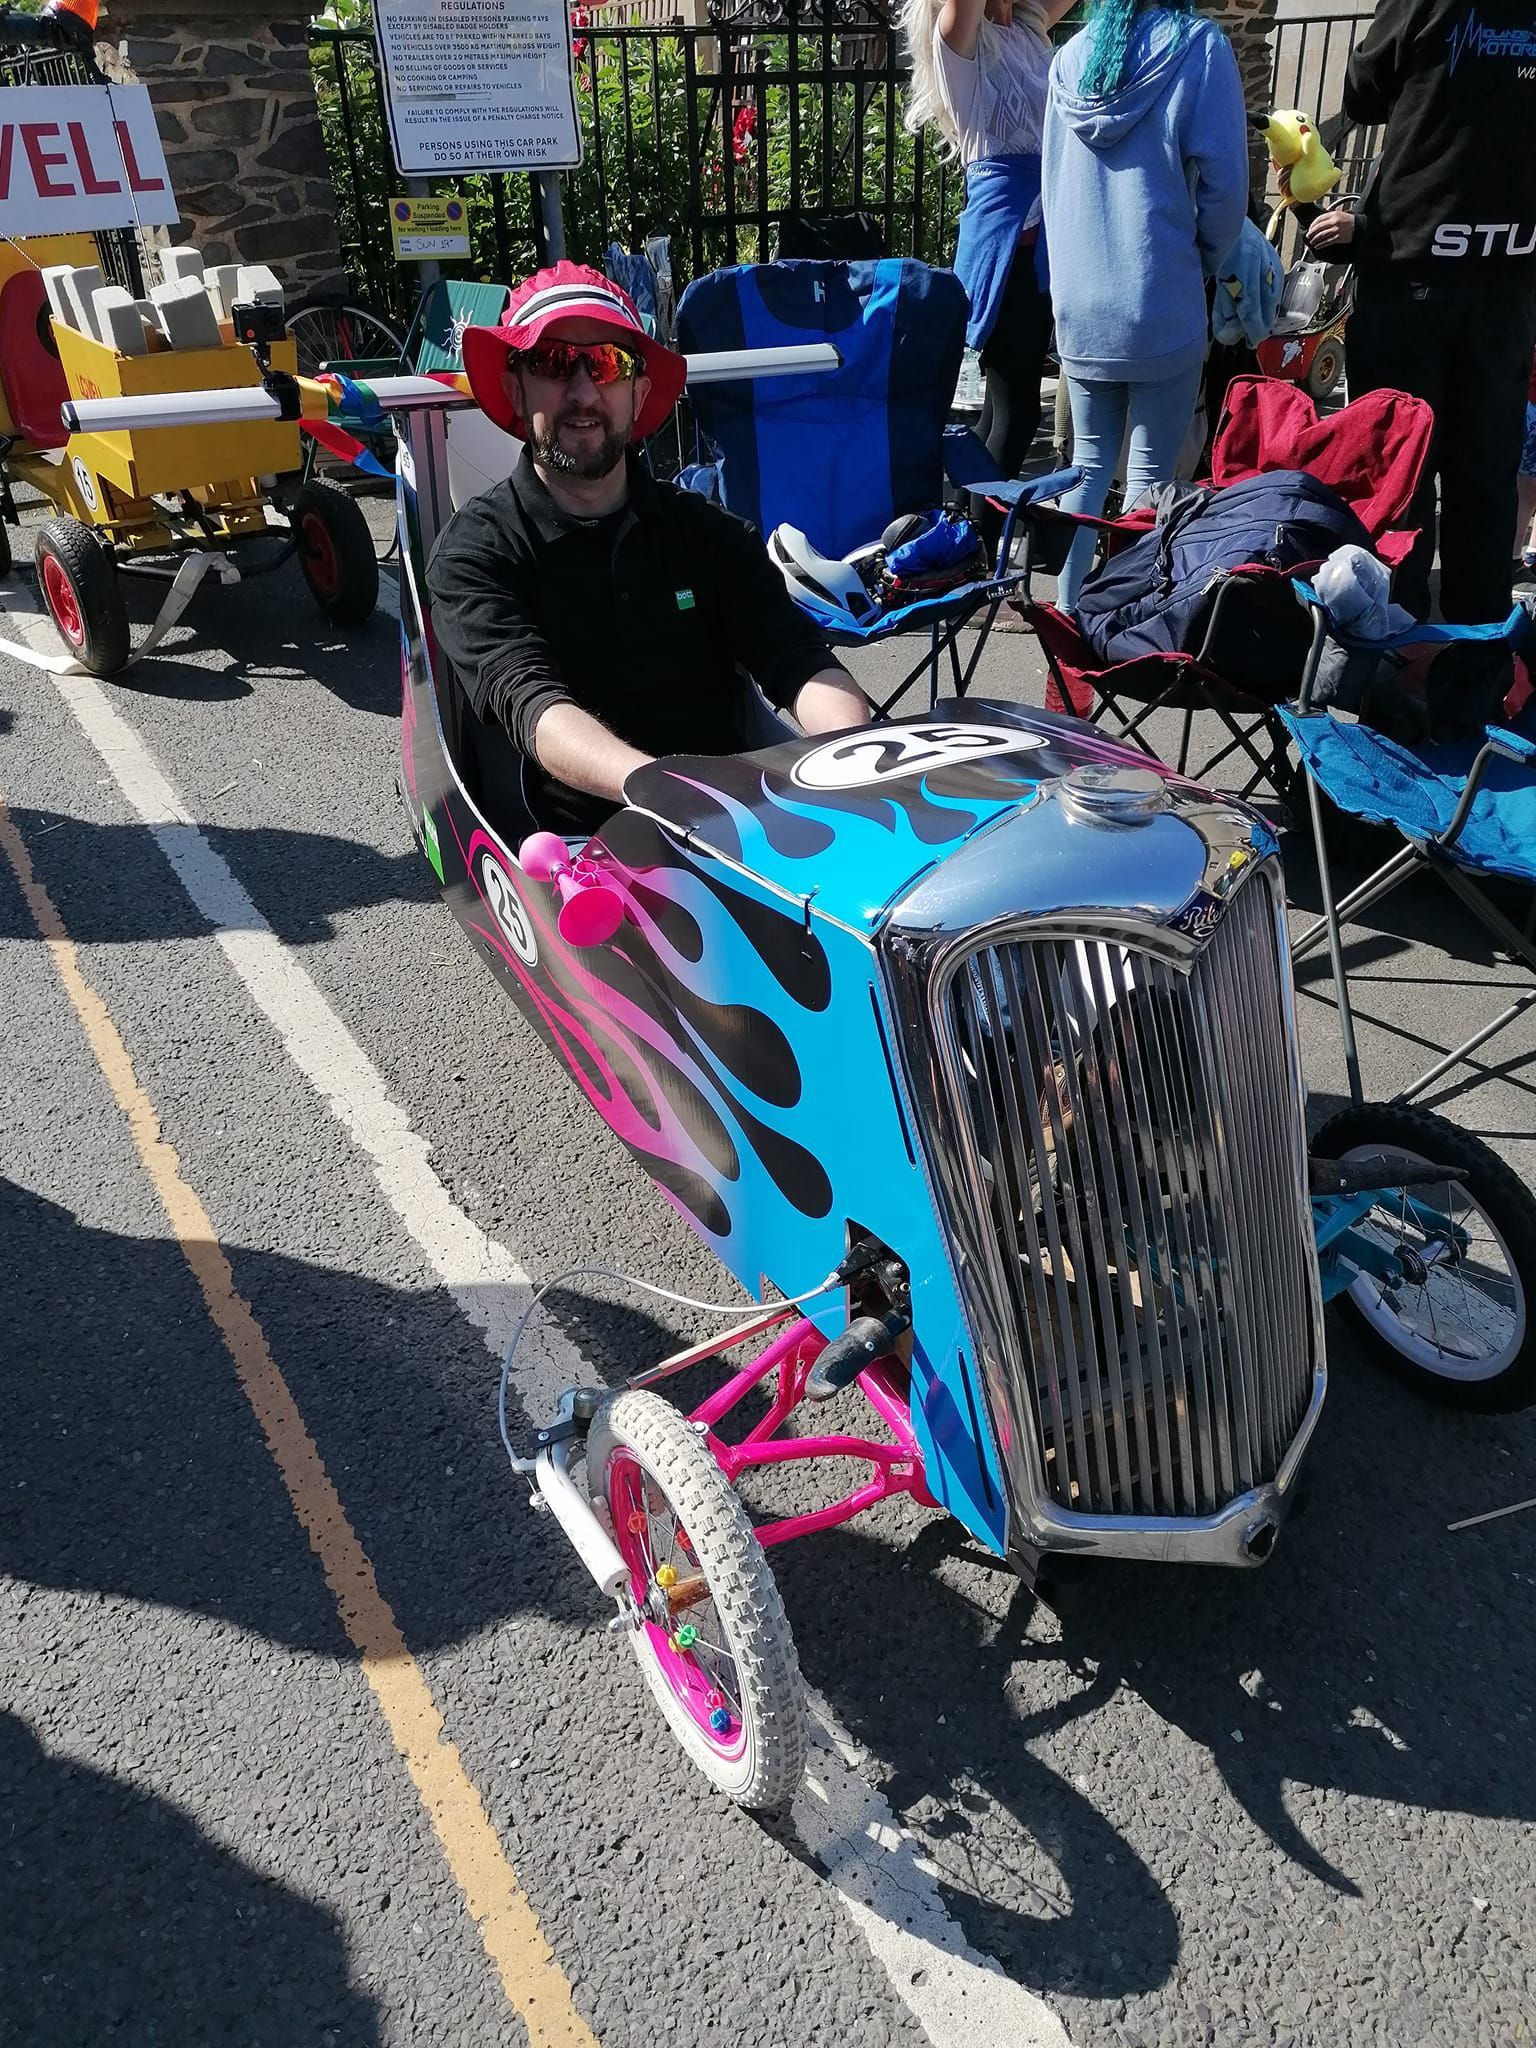
[[[971,1942],[1030,1985],[1167,1980],[1180,1935],[1153,1866],[1225,1853],[1157,1800],[1153,1759],[1118,1753],[1122,1692],[1335,1894],[1360,1894],[1350,1837],[1335,1804],[1313,1839],[1296,1788],[1536,1821],[1536,1640],[1511,1620],[1536,1583],[1530,1516],[1448,1534],[1536,1493],[1536,1417],[1438,1409],[1329,1335],[1309,1505],[1264,1571],[1085,1563],[1053,1593],[1057,1630],[952,1522],[905,1548],[856,1526],[776,1554],[807,1679],[895,1767]],[[1122,1765],[1135,1841],[1034,1753],[1071,1722],[1096,1772]],[[1362,1855],[1378,1878],[1380,1845]]]

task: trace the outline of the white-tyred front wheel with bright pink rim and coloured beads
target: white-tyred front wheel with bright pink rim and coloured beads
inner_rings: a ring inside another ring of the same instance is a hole
[[[709,1444],[649,1393],[610,1395],[588,1487],[612,1516],[635,1655],[698,1769],[739,1806],[788,1806],[805,1774],[805,1688],[784,1602]]]

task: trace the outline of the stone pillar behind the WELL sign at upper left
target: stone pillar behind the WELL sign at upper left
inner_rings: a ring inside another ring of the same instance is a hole
[[[344,283],[305,20],[270,0],[111,0],[96,51],[150,88],[180,209],[160,233],[270,264],[295,299]]]

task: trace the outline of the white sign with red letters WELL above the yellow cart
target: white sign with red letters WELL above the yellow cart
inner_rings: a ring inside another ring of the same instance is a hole
[[[0,236],[178,221],[145,86],[0,92]]]

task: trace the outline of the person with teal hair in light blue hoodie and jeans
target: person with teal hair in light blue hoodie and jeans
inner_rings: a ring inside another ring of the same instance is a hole
[[[1174,477],[1206,354],[1206,279],[1247,211],[1237,57],[1190,0],[1096,0],[1057,51],[1042,211],[1083,473],[1063,508],[1104,510],[1122,446],[1126,506],[1139,504]],[[1083,530],[1057,588],[1065,610],[1092,559]]]

